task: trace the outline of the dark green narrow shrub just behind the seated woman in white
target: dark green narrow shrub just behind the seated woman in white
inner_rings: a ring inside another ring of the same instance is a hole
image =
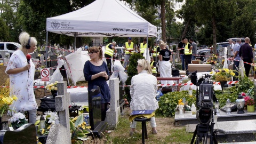
[[[126,85],[131,85],[132,77],[138,74],[137,71],[137,65],[138,65],[138,59],[145,59],[141,54],[134,53],[131,55],[129,61],[129,67],[127,68],[127,75],[129,76],[125,82]],[[125,97],[127,101],[131,101],[131,94],[130,94],[130,87],[124,88]]]

